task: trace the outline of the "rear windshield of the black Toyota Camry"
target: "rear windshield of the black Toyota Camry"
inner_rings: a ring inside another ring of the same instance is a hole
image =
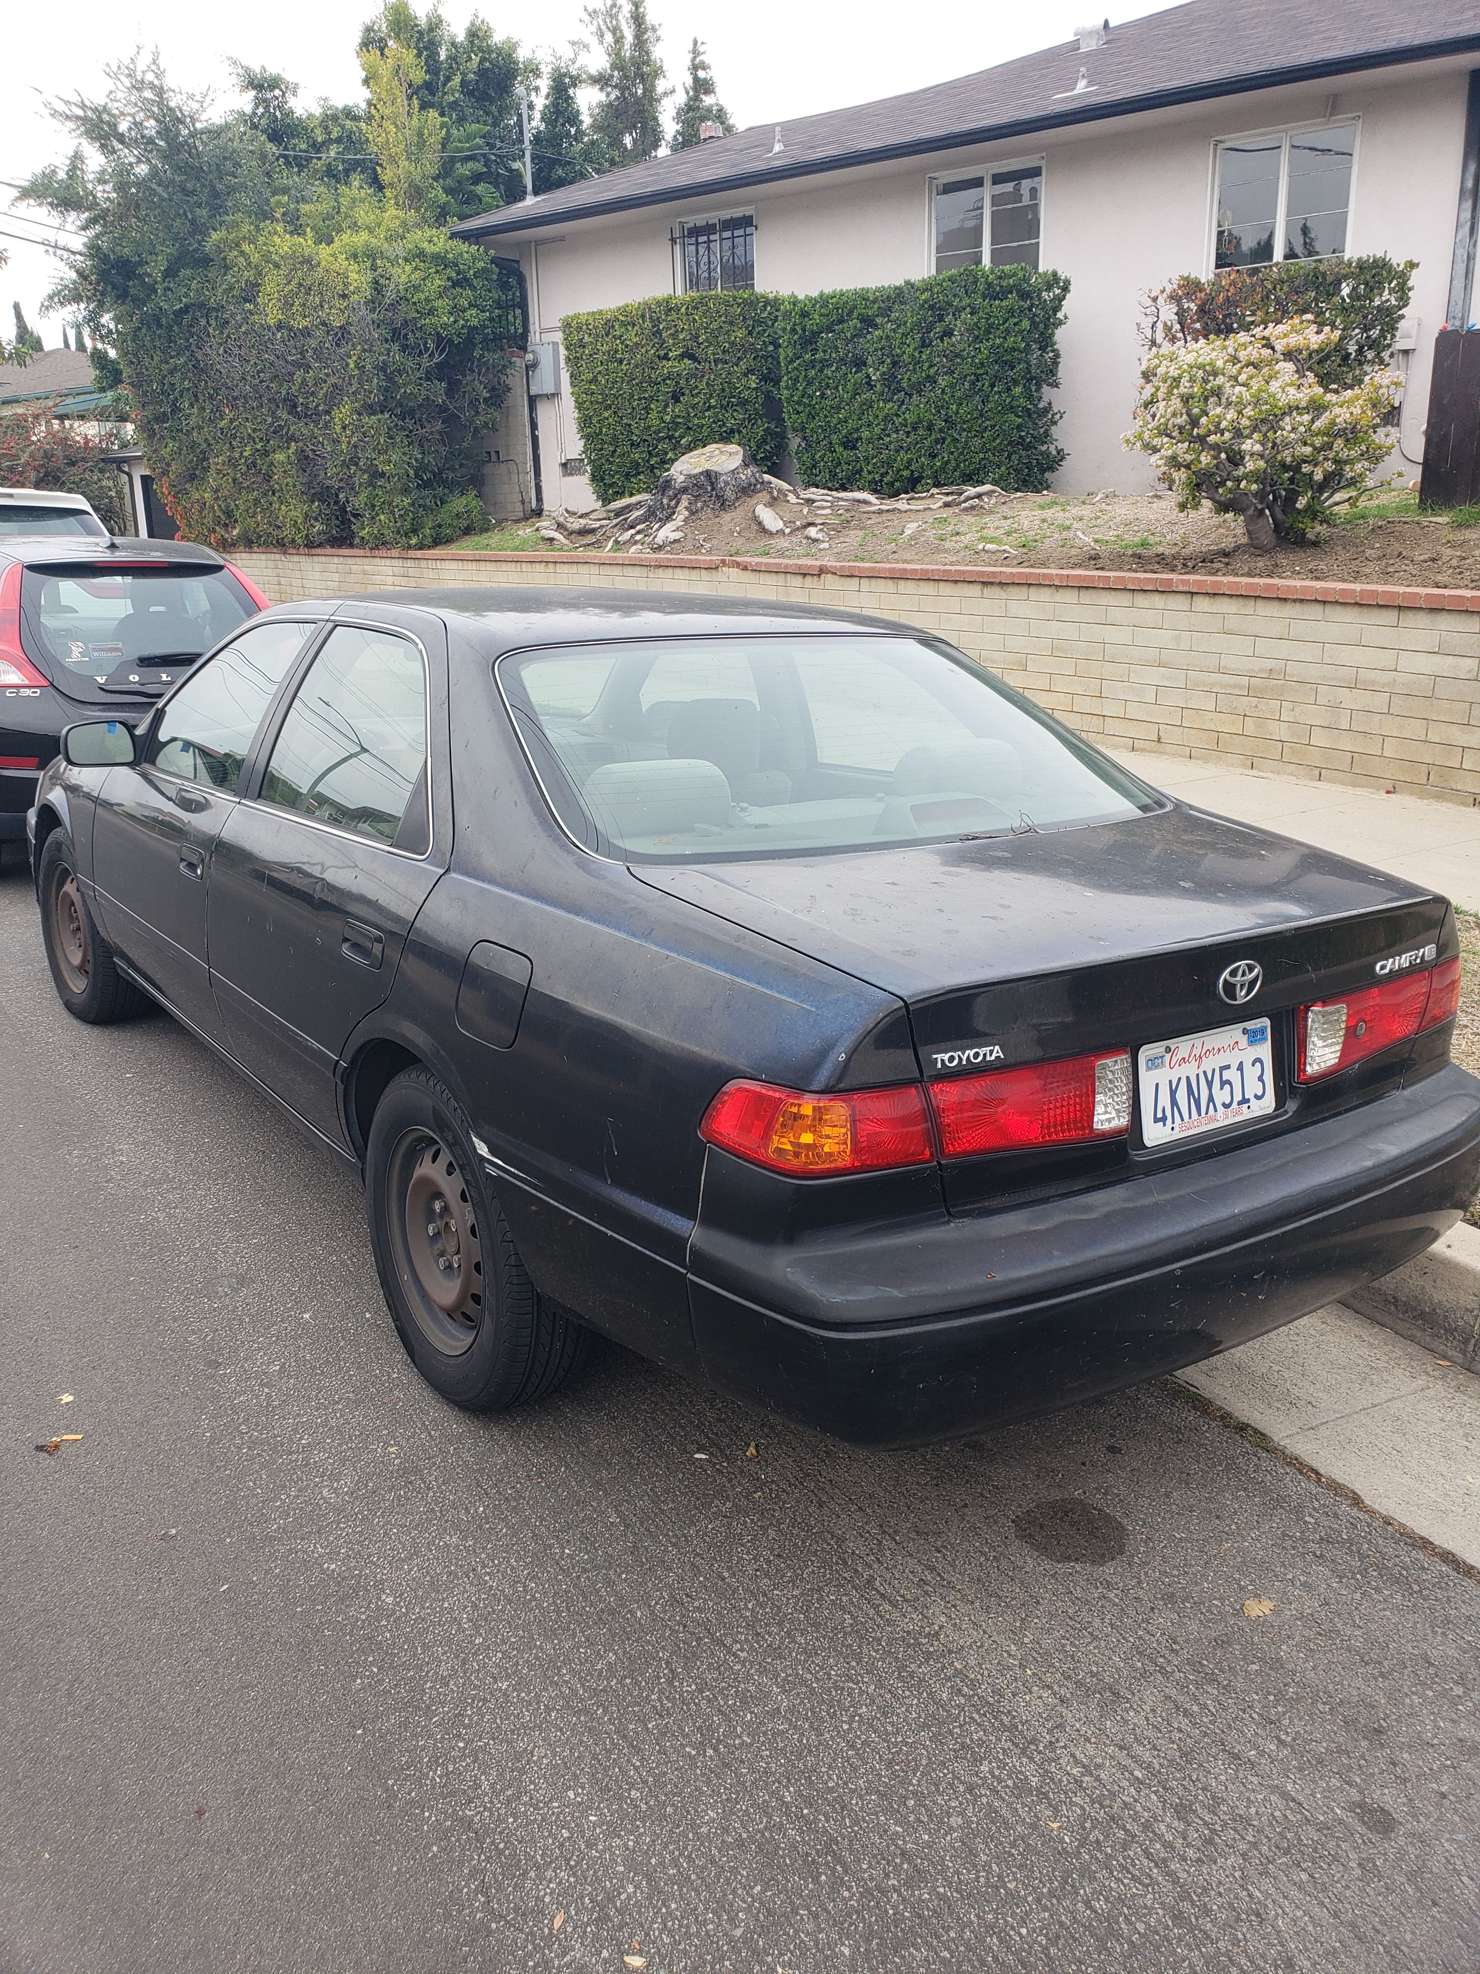
[[[628,863],[1077,829],[1160,807],[971,659],[914,638],[511,653],[499,687],[566,831]]]

